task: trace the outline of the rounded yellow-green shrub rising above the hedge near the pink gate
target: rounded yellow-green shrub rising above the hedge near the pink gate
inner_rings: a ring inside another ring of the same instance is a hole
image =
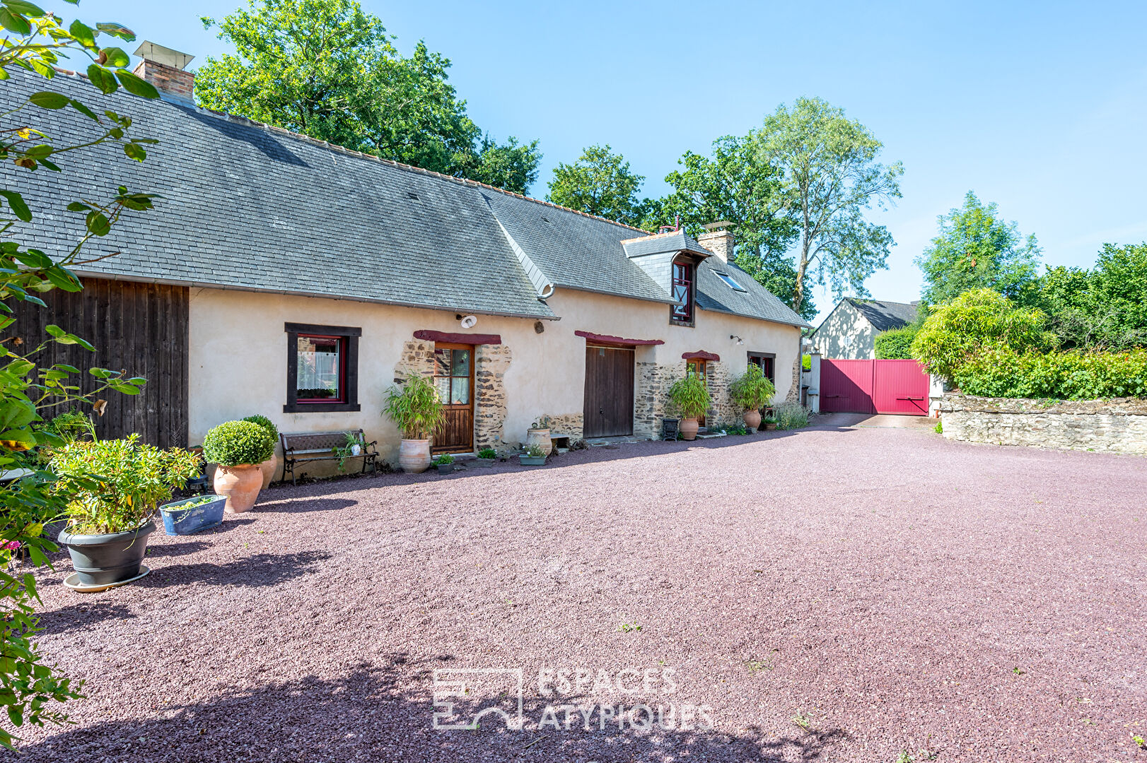
[[[934,308],[911,352],[928,371],[951,382],[957,368],[984,347],[1053,348],[1046,321],[1038,309],[1016,307],[991,289],[975,289]]]

